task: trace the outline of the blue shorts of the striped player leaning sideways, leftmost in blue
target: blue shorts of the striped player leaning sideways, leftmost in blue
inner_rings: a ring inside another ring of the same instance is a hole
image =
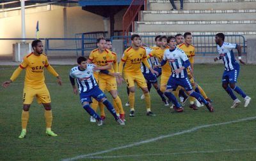
[[[106,95],[97,86],[97,87],[92,88],[92,90],[90,90],[88,92],[82,92],[80,94],[80,101],[81,101],[82,104],[83,104],[83,102],[91,103],[92,102],[92,97],[94,99],[96,99],[97,101],[100,101],[101,99],[106,97]]]

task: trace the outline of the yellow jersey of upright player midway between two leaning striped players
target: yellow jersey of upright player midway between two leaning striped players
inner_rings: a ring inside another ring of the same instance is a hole
[[[129,47],[124,51],[121,61],[124,64],[124,73],[126,74],[141,74],[141,62],[143,59],[147,59],[146,50],[143,47],[139,47],[138,50]]]

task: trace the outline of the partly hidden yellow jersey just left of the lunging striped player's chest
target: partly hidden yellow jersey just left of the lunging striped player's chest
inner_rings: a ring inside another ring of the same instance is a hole
[[[156,57],[157,60],[158,60],[159,63],[160,63],[160,62],[163,60],[164,51],[165,51],[165,50],[168,50],[168,48],[167,48],[167,47],[164,48],[164,49],[162,49],[162,48],[160,48],[160,47],[155,48],[155,50],[153,50],[153,51],[149,54],[149,56],[150,56],[150,57]],[[164,66],[162,66],[162,75],[164,75],[164,76],[170,76],[171,74],[172,74],[172,68],[171,68],[170,64],[169,64],[169,63],[164,64]]]

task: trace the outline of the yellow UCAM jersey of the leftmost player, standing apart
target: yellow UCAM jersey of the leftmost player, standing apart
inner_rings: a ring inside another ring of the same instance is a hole
[[[45,84],[44,67],[48,66],[49,62],[44,53],[38,56],[33,52],[26,55],[19,66],[22,69],[26,69],[24,85],[41,88]],[[58,76],[58,73],[55,72],[54,76]]]

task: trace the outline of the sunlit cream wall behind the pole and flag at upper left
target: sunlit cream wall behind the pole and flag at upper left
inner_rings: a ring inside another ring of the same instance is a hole
[[[115,16],[115,29],[122,30],[122,15]],[[51,5],[26,8],[26,38],[35,38],[36,22],[39,20],[40,38],[74,38],[76,33],[104,31],[103,17],[84,11],[79,6],[67,7]],[[0,38],[20,38],[20,11],[0,13]],[[0,40],[0,56],[12,55],[12,44],[19,41]],[[56,41],[51,46],[62,47],[67,43]]]

